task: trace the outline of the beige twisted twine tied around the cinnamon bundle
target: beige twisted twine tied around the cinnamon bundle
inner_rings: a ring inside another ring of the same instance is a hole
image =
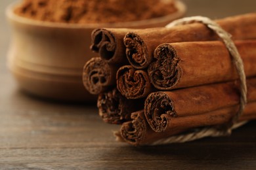
[[[194,22],[200,22],[202,24],[205,24],[209,29],[215,31],[215,33],[224,42],[226,48],[228,49],[228,52],[230,52],[232,63],[236,67],[236,71],[238,73],[239,80],[240,80],[240,107],[238,109],[238,112],[236,112],[236,114],[230,120],[229,124],[227,124],[226,128],[224,129],[217,129],[216,127],[203,127],[191,133],[174,135],[166,139],[161,139],[154,143],[150,143],[150,145],[184,143],[188,141],[194,141],[196,139],[201,139],[203,137],[220,137],[224,135],[230,135],[232,132],[232,129],[235,129],[236,127],[240,127],[246,123],[246,122],[238,123],[238,118],[244,111],[244,107],[247,103],[247,86],[246,86],[246,76],[244,73],[244,63],[241,59],[238,49],[236,48],[234,42],[231,39],[231,35],[226,31],[224,31],[224,29],[222,29],[219,24],[203,16],[192,16],[192,17],[175,20],[170,24],[166,25],[165,27],[169,28],[175,25],[184,25],[184,24],[190,24]]]

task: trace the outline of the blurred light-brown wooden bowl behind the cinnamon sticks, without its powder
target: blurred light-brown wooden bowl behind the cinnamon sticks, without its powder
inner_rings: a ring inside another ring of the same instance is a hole
[[[150,20],[114,24],[63,24],[18,16],[14,5],[7,8],[12,41],[7,55],[9,69],[20,88],[33,95],[61,101],[95,101],[83,87],[83,65],[96,56],[89,49],[91,31],[97,27],[160,27],[184,15],[178,11]]]

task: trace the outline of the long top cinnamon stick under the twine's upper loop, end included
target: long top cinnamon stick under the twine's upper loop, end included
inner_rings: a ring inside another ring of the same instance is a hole
[[[244,14],[216,20],[233,39],[256,38],[256,13]],[[159,44],[188,41],[213,41],[219,37],[200,23],[178,25],[171,28],[154,28],[132,31],[125,35],[126,55],[133,67],[144,69],[153,59]]]

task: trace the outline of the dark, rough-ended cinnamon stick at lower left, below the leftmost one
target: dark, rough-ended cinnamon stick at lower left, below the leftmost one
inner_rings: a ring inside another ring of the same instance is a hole
[[[116,88],[98,95],[98,112],[104,122],[122,124],[131,120],[131,112],[143,109],[142,100],[126,99]]]

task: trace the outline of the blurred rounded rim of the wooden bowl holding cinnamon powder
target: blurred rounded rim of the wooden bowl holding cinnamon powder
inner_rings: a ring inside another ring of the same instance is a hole
[[[74,23],[62,23],[62,22],[45,22],[40,20],[33,20],[32,18],[26,18],[24,16],[19,16],[14,12],[16,6],[20,3],[20,1],[16,1],[11,3],[5,10],[5,14],[9,20],[15,20],[20,24],[28,24],[35,26],[45,26],[45,27],[64,27],[64,28],[95,28],[95,27],[145,27],[146,25],[152,25],[163,22],[171,22],[181,16],[184,16],[186,12],[186,5],[180,1],[175,1],[175,6],[177,8],[177,12],[161,16],[158,18],[150,18],[148,20],[139,20],[133,22],[116,22],[116,23],[97,23],[97,24],[74,24]]]

